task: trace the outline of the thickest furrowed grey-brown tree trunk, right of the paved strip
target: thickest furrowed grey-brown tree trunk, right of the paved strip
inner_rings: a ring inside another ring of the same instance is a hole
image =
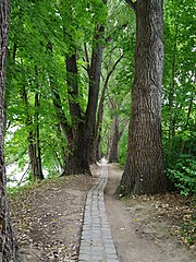
[[[161,146],[163,1],[137,0],[135,76],[121,195],[166,192]]]

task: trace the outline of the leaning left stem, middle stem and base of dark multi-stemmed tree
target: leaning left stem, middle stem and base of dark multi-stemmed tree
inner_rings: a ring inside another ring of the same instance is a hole
[[[66,32],[64,31],[64,34]],[[70,36],[71,38],[71,36]],[[71,39],[72,40],[72,39]],[[52,56],[52,45],[48,43],[48,51]],[[73,53],[65,58],[66,67],[66,82],[68,82],[68,94],[69,94],[69,106],[71,122],[68,121],[64,115],[61,97],[59,90],[54,84],[51,75],[50,87],[52,92],[52,100],[56,109],[56,115],[59,121],[59,127],[66,141],[65,152],[65,165],[63,175],[78,175],[78,174],[90,174],[87,157],[85,155],[85,136],[84,136],[84,119],[79,107],[78,97],[78,81],[77,81],[77,66],[76,66],[76,49],[73,48]]]

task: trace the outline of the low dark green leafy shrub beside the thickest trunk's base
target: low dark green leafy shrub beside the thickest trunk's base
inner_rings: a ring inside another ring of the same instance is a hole
[[[168,168],[168,175],[182,195],[196,193],[196,158],[192,155],[181,155]]]

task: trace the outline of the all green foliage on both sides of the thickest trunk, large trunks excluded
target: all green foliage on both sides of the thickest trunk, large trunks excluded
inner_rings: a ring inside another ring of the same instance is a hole
[[[166,2],[162,141],[167,174],[184,194],[196,190],[193,17],[194,4],[191,1]],[[105,106],[103,121],[100,120],[98,131],[101,155],[108,154],[111,160],[120,160],[123,165],[133,82],[134,12],[122,1],[109,1],[108,11],[101,1],[12,3],[5,155],[7,165],[16,163],[27,179],[35,179],[28,156],[30,145],[35,146],[36,157],[41,162],[40,172],[45,176],[61,174],[64,169],[68,141],[59,126],[54,98],[59,96],[59,108],[61,106],[69,124],[74,124],[64,59],[76,46],[78,96],[71,99],[79,99],[79,107],[85,111],[97,24],[105,26],[105,36],[100,39],[103,58],[99,100],[102,95]],[[9,179],[14,177],[9,176]]]

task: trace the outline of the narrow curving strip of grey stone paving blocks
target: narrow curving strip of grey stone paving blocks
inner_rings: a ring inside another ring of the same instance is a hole
[[[86,200],[78,262],[119,262],[105,210],[107,181],[108,167],[103,159],[101,176]]]

